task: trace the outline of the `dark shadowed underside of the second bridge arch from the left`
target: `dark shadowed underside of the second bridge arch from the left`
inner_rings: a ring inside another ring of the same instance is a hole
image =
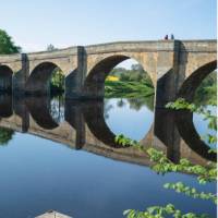
[[[52,62],[43,62],[36,65],[26,82],[26,93],[48,94],[50,78],[56,69],[60,69],[60,66]]]

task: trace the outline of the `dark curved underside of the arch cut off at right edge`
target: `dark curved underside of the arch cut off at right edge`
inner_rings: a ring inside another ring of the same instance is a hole
[[[217,60],[210,61],[199,66],[184,81],[179,89],[178,97],[185,98],[187,101],[193,101],[195,90],[202,81],[216,69]]]

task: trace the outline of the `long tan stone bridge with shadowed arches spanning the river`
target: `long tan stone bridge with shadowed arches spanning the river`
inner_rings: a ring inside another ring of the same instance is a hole
[[[201,81],[217,68],[216,40],[111,43],[36,53],[0,56],[0,89],[45,94],[55,68],[65,75],[66,98],[102,98],[107,74],[133,58],[152,77],[156,106],[177,96],[192,99]],[[11,77],[13,77],[11,82]]]

